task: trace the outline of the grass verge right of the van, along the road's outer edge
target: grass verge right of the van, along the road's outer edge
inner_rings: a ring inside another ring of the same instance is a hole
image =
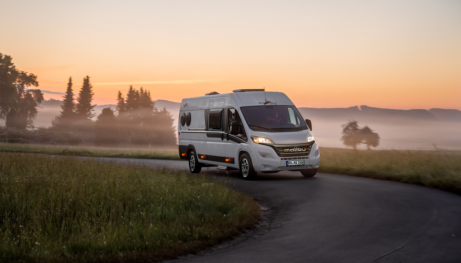
[[[319,172],[400,181],[461,194],[461,151],[320,148]]]

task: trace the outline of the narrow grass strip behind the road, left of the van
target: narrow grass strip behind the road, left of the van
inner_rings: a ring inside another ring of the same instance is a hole
[[[169,159],[179,160],[177,148],[122,148],[122,147],[96,147],[96,146],[68,146],[68,145],[43,145],[0,143],[2,152],[30,152],[47,153],[55,155],[73,155],[89,157],[115,157],[139,159]]]

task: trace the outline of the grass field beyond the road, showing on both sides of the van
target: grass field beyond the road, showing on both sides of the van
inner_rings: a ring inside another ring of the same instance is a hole
[[[0,144],[2,152],[179,159],[177,149]],[[461,193],[461,151],[320,148],[319,172],[401,181]]]

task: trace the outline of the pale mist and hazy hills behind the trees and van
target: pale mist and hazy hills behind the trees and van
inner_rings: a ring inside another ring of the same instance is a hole
[[[34,122],[35,127],[48,127],[53,117],[61,110],[59,100],[44,100]],[[96,116],[106,107],[115,105],[96,105]],[[169,111],[175,119],[180,103],[156,100],[157,109]],[[353,118],[361,127],[367,125],[381,137],[380,146],[375,149],[461,150],[461,111],[446,109],[393,110],[373,108],[365,105],[349,108],[298,108],[304,118],[310,119],[313,134],[321,147],[344,148],[339,140],[341,124]],[[96,118],[96,117],[95,117]],[[94,118],[94,119],[95,119]],[[361,145],[359,148],[365,149]]]

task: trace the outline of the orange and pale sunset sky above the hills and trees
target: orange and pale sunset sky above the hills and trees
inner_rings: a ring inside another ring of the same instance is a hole
[[[0,53],[95,104],[263,88],[298,107],[461,110],[461,1],[0,0]],[[45,93],[45,98],[61,99]]]

